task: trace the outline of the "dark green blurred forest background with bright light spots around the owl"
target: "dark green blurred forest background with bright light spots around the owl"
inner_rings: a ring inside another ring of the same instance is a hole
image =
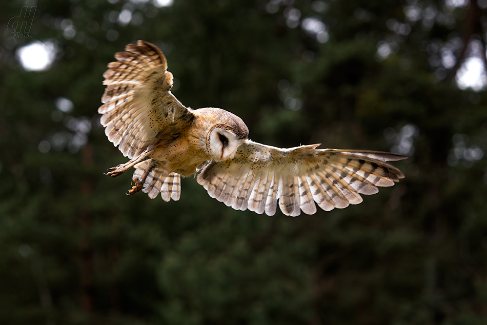
[[[0,323],[485,324],[486,8],[4,2]],[[137,39],[164,51],[184,105],[229,110],[273,146],[402,153],[406,177],[296,218],[234,211],[192,178],[177,202],[127,197],[132,173],[102,174],[126,158],[97,108]]]

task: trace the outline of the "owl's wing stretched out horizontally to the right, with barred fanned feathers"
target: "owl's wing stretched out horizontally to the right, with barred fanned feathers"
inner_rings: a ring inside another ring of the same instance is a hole
[[[236,156],[211,161],[197,181],[211,197],[235,210],[274,215],[279,199],[282,213],[297,216],[359,204],[360,194],[375,194],[377,187],[393,186],[404,174],[386,161],[407,157],[379,151],[290,149],[246,140]]]

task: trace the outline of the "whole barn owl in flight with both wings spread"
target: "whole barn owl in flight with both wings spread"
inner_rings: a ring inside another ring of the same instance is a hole
[[[115,177],[134,167],[133,195],[178,200],[181,176],[198,173],[211,197],[235,210],[297,216],[359,204],[360,194],[393,186],[404,177],[386,161],[406,157],[379,151],[281,149],[248,139],[240,117],[219,109],[191,109],[171,93],[173,75],[155,45],[139,40],[115,54],[103,74],[107,86],[100,123],[131,160],[112,167]]]

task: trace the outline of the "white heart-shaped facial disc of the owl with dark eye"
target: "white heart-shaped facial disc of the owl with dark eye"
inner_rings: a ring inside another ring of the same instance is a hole
[[[222,161],[232,159],[243,141],[227,125],[216,124],[208,132],[206,144],[211,159]]]

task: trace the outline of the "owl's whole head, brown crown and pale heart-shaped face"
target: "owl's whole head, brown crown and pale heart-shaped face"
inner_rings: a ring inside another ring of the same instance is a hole
[[[242,119],[230,112],[214,109],[217,116],[206,136],[206,147],[212,160],[232,159],[238,147],[249,136],[249,129]]]

